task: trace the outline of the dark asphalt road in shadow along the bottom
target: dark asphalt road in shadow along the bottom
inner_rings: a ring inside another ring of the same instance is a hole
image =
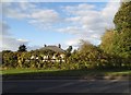
[[[3,93],[129,93],[127,80],[17,80],[3,81]]]

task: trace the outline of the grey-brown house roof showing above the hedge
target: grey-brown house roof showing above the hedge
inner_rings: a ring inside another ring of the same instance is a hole
[[[57,46],[46,46],[46,47],[40,48],[40,50],[47,50],[47,49],[56,51],[56,52],[60,52],[60,54],[64,52],[63,49],[61,49],[61,48],[59,48]]]

